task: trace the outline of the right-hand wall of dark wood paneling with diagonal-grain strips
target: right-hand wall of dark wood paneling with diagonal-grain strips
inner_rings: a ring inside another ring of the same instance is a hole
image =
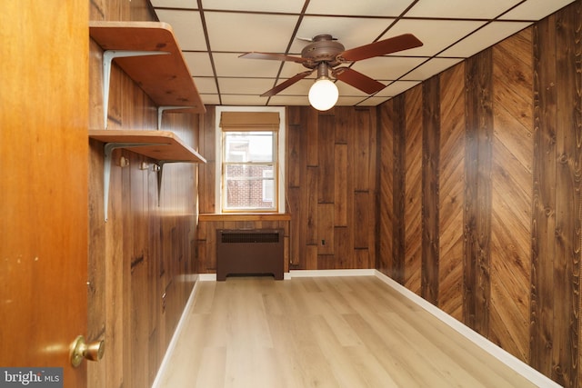
[[[377,269],[568,387],[582,357],[581,5],[377,107]]]

